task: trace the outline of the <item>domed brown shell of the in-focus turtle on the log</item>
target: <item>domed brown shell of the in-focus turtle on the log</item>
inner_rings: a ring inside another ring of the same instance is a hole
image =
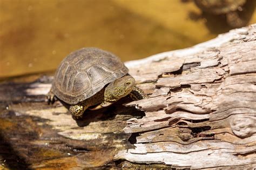
[[[127,67],[117,56],[86,47],[62,60],[53,79],[52,92],[65,103],[75,105],[127,73]]]

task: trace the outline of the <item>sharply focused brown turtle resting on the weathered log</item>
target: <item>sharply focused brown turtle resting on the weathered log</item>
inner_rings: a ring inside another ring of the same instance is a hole
[[[98,110],[125,96],[133,100],[147,98],[128,72],[111,52],[96,47],[73,51],[56,70],[48,102],[54,103],[57,97],[70,105],[75,118],[80,118],[86,109]]]

